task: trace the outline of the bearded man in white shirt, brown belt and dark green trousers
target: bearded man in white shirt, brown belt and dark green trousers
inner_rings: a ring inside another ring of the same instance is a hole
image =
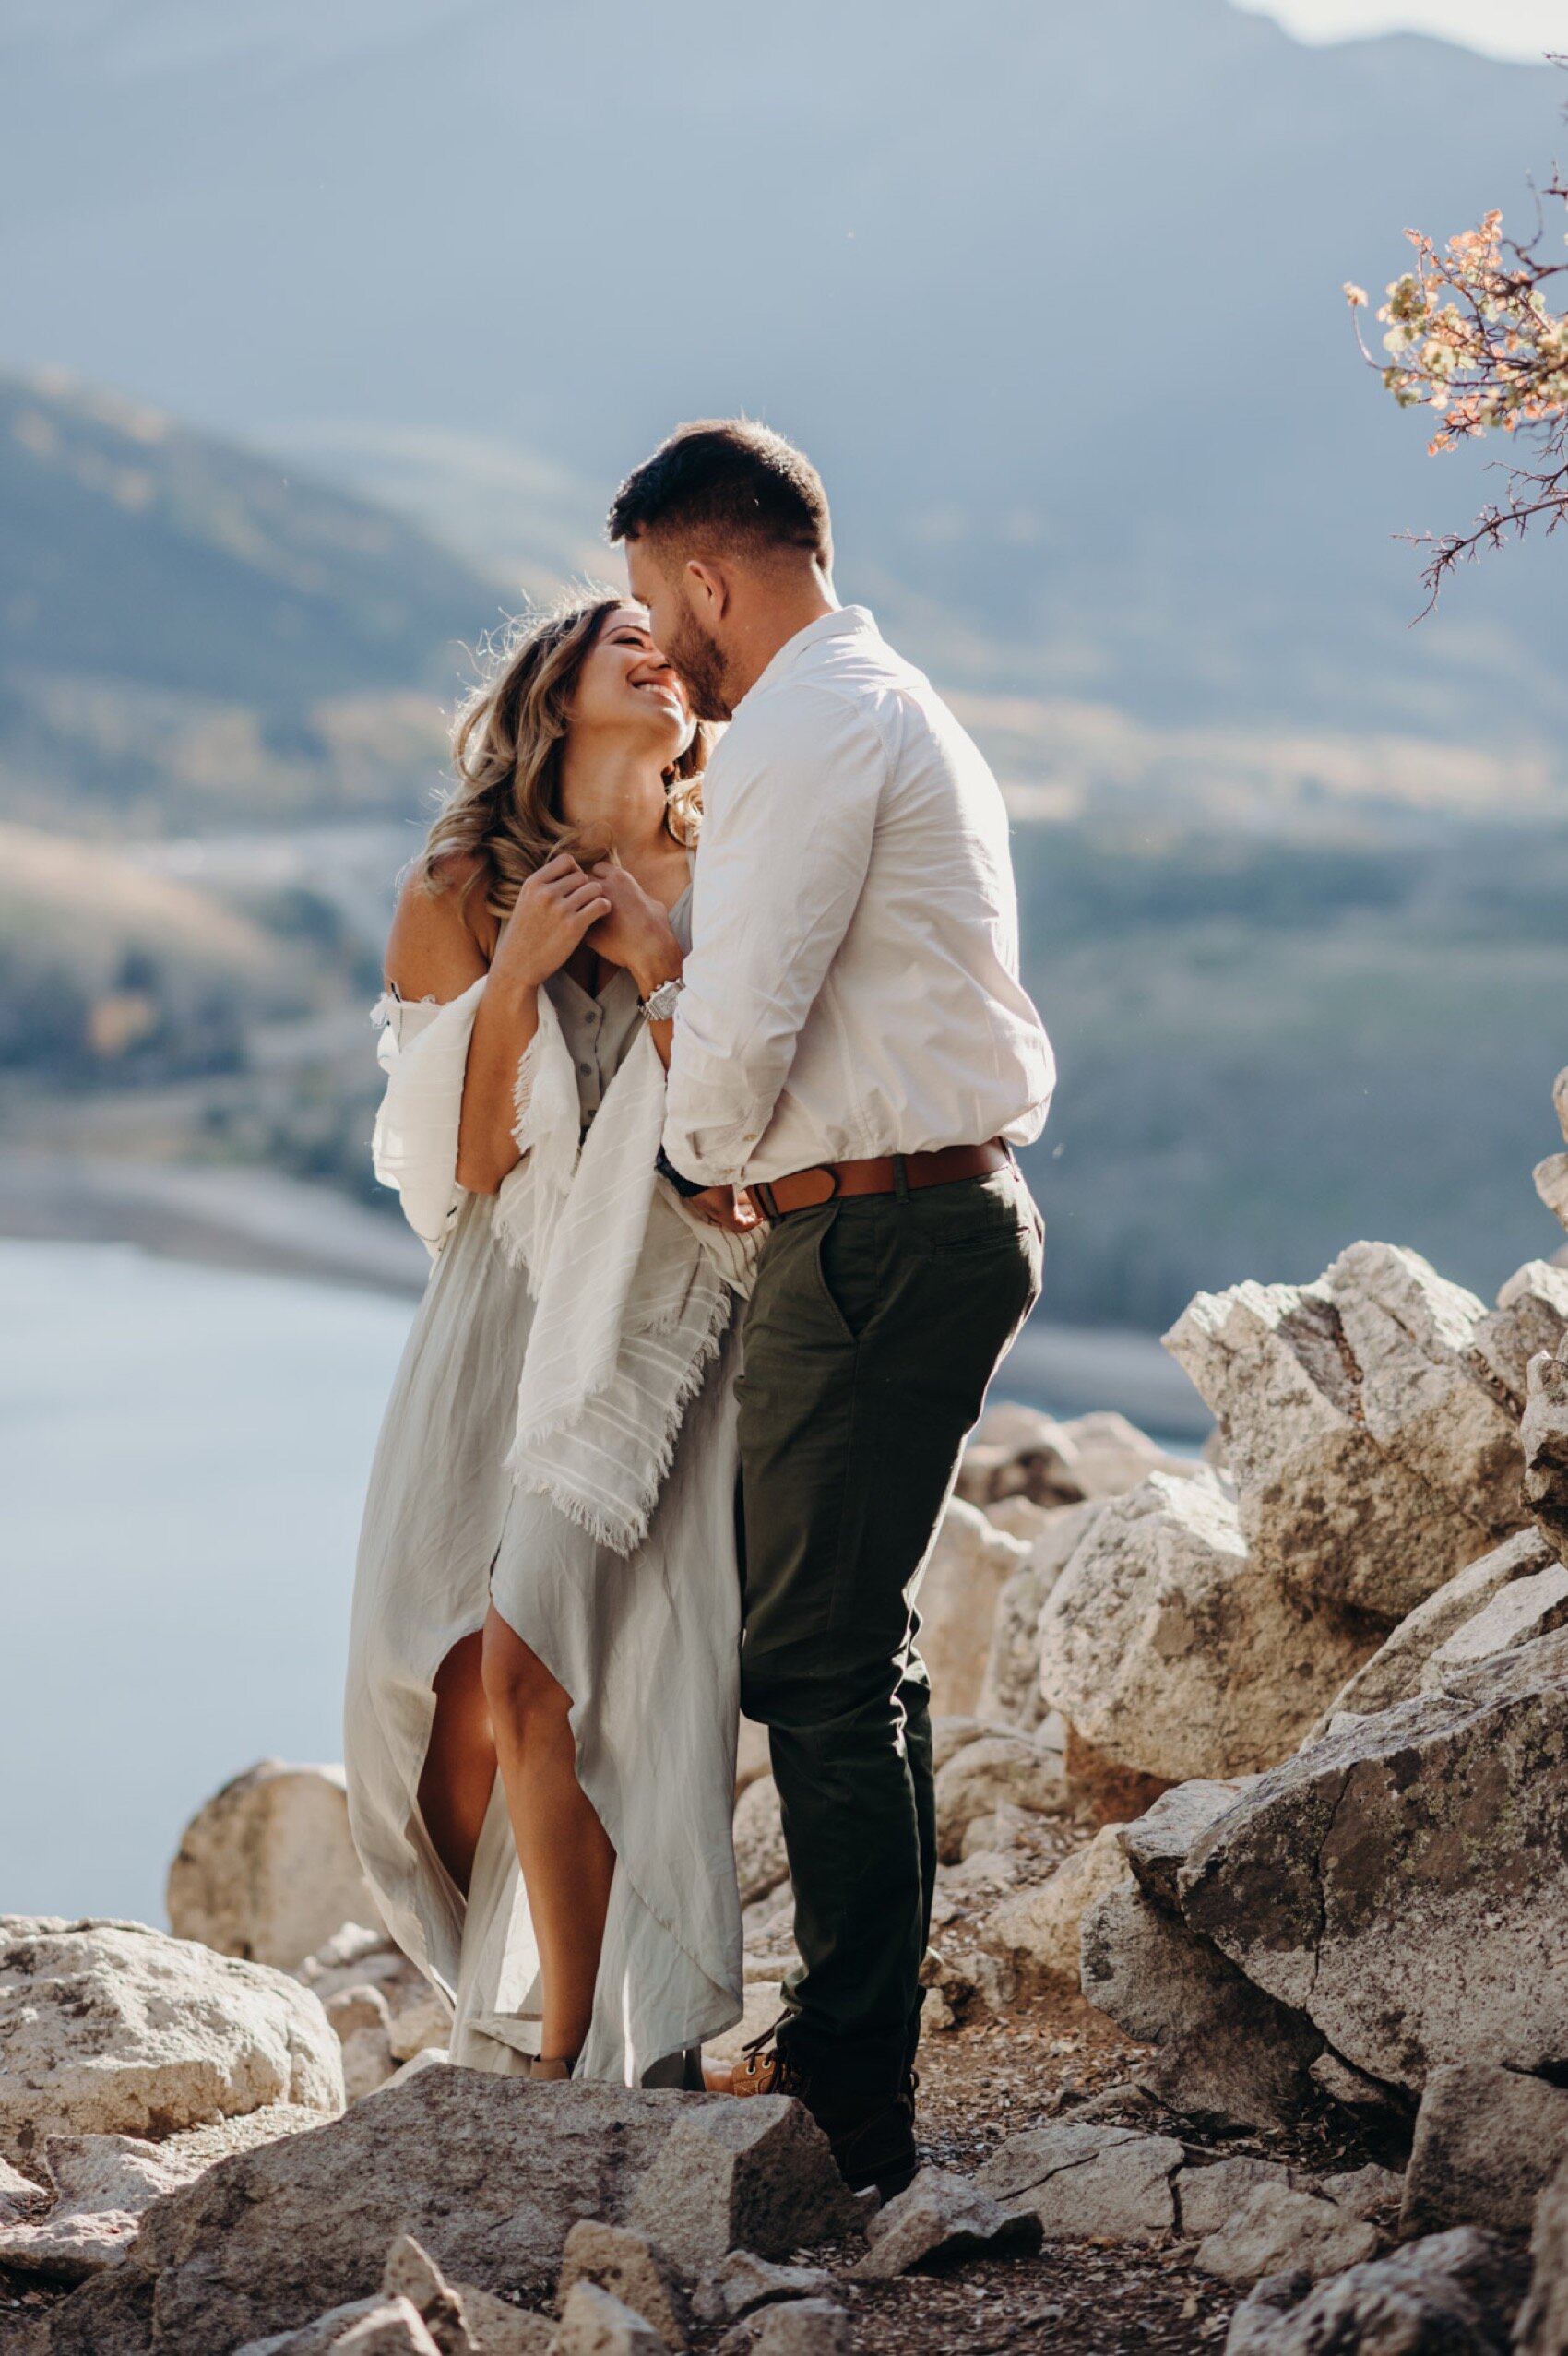
[[[791,2092],[850,2184],[916,2168],[935,1887],[913,1593],[965,1432],[1038,1296],[1012,1145],[1050,1044],[1017,980],[996,780],[833,596],[810,462],[680,426],[610,537],[702,719],[692,952],[633,964],[669,1039],[666,1173],[770,1220],[739,1385],[742,1708],[770,1729],[800,1967],[737,2092]]]

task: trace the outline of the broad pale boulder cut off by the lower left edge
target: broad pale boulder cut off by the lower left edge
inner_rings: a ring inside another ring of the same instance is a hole
[[[283,1972],[141,1922],[0,1918],[0,2149],[165,2137],[292,2102],[344,2106],[339,2045]]]

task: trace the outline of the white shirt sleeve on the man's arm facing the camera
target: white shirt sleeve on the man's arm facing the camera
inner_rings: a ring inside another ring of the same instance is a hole
[[[888,754],[864,712],[789,686],[713,763],[676,1008],[664,1150],[737,1185],[866,881]]]

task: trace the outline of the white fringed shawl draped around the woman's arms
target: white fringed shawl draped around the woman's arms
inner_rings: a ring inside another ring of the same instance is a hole
[[[461,1199],[457,1129],[483,990],[480,978],[447,1006],[398,1006],[400,1037],[381,1048],[388,1086],[374,1166],[431,1256]],[[737,1293],[751,1291],[760,1239],[709,1227],[657,1176],[664,1067],[645,1030],[584,1138],[572,1055],[542,990],[516,1107],[523,1159],[497,1194],[494,1237],[525,1270],[537,1308],[509,1468],[600,1546],[631,1555],[647,1536],[680,1416]]]

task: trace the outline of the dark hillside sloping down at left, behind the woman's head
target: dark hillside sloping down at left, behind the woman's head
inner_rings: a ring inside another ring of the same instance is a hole
[[[407,808],[501,596],[365,499],[0,377],[0,808],[99,832]]]

